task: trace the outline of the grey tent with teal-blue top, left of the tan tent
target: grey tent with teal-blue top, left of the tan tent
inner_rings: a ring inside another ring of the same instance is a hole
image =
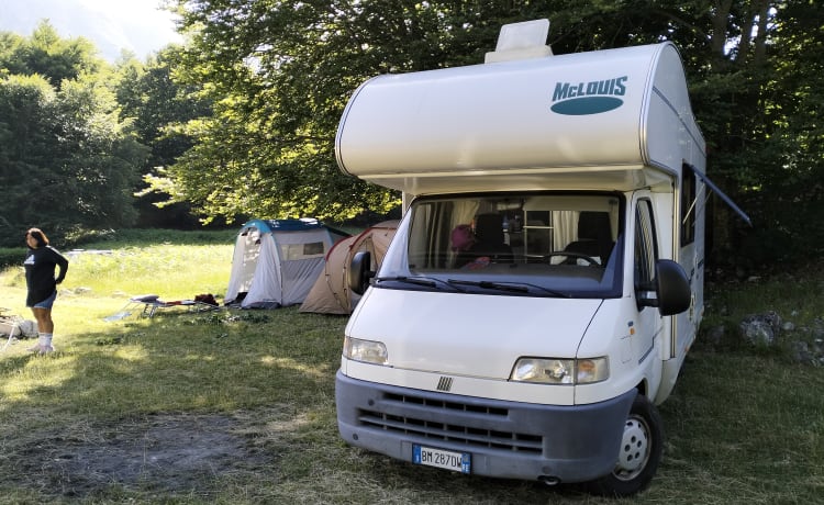
[[[318,220],[252,220],[237,234],[226,304],[275,308],[302,303],[324,257],[348,234]]]

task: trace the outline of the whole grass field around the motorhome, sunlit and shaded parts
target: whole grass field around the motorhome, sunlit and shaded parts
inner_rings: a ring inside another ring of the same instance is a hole
[[[667,441],[633,500],[463,476],[346,446],[334,373],[346,318],[276,311],[105,322],[130,295],[223,293],[232,235],[133,235],[73,258],[57,352],[0,352],[0,503],[795,504],[824,496],[824,368],[699,341],[660,406]],[[22,250],[21,250],[22,254]],[[30,317],[19,267],[0,306]],[[824,317],[824,274],[721,283],[708,324]],[[3,340],[4,344],[4,340]]]

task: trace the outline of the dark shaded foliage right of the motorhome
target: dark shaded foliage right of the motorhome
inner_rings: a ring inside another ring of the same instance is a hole
[[[760,267],[817,257],[824,251],[817,8],[809,1],[730,5],[713,16],[724,40],[688,59],[711,177],[754,221],[754,228],[743,228],[716,205],[715,259]]]

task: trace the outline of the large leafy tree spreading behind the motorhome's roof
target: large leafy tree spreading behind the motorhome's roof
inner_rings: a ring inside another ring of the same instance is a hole
[[[821,124],[821,88],[806,86],[821,81],[821,52],[804,50],[822,43],[813,0],[170,3],[191,41],[175,76],[215,106],[189,124],[194,146],[153,183],[210,215],[388,209],[396,194],[335,167],[335,128],[353,91],[377,74],[480,63],[502,24],[535,18],[552,20],[556,54],[680,47],[711,176],[757,226],[736,228],[713,206],[717,251],[765,233],[801,239],[790,207],[768,209],[766,195],[780,202],[803,189],[805,209],[821,207],[821,132],[809,126]]]

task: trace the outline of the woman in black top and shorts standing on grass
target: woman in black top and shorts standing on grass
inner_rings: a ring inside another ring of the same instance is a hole
[[[32,308],[34,318],[37,319],[37,345],[29,350],[45,355],[52,352],[52,334],[54,322],[52,321],[52,305],[57,298],[57,284],[63,282],[68,271],[68,260],[48,245],[48,238],[40,228],[31,228],[25,233],[25,244],[29,252],[23,266],[25,267],[25,285],[29,293],[25,305]],[[55,268],[60,272],[55,278]]]

